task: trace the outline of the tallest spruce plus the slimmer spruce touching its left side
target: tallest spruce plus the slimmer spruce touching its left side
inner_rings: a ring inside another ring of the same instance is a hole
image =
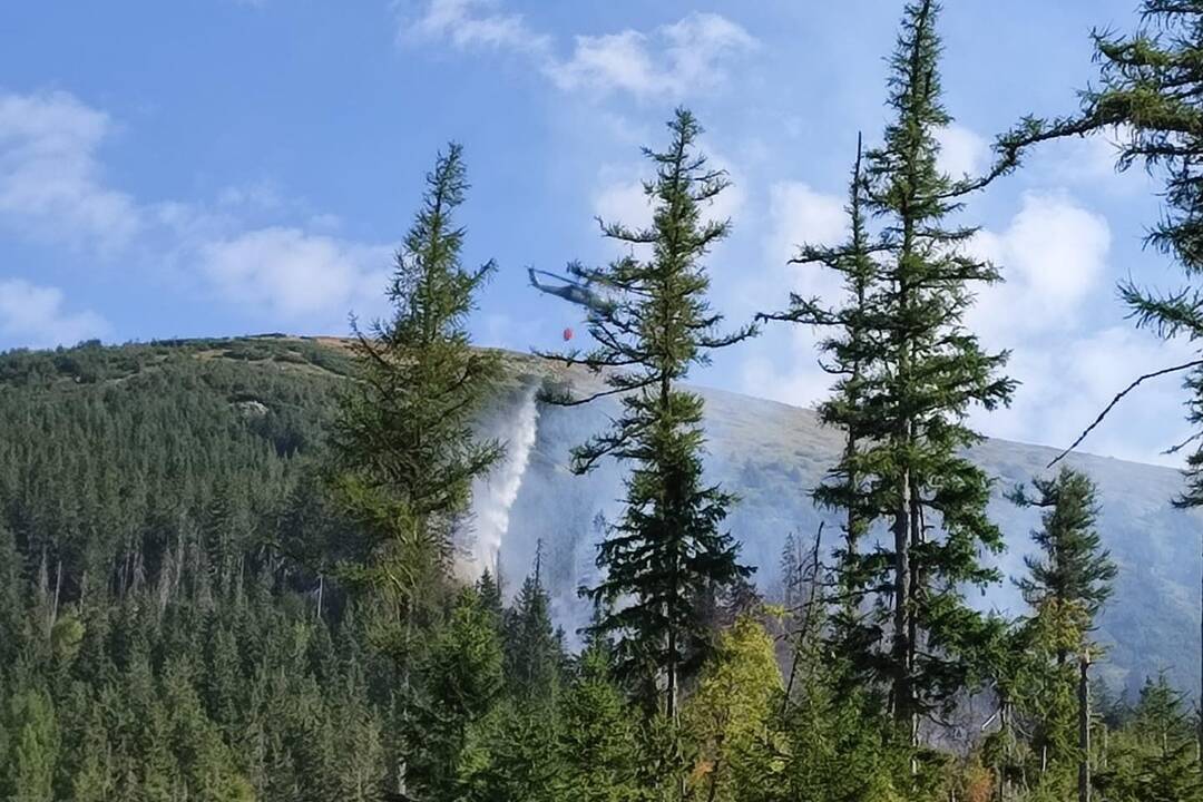
[[[980,438],[971,406],[1009,402],[1006,354],[986,354],[964,317],[976,286],[998,280],[966,250],[974,228],[954,225],[961,198],[982,180],[954,180],[937,166],[937,133],[952,123],[941,102],[934,0],[907,5],[890,59],[883,143],[858,159],[849,192],[852,237],[804,248],[845,279],[846,302],[828,309],[794,297],[772,317],[832,329],[823,349],[841,376],[822,410],[847,447],[817,499],[846,511],[835,586],[835,647],[854,676],[888,683],[894,717],[917,741],[919,718],[946,708],[980,679],[995,624],[965,604],[967,586],[997,580],[980,552],[1002,548],[986,517],[986,475],[965,457]],[[867,221],[877,231],[867,231]],[[875,553],[859,541],[875,522],[891,536]]]

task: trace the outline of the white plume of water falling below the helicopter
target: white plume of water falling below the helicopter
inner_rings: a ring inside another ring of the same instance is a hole
[[[502,426],[508,429],[500,433],[506,446],[505,459],[487,476],[473,483],[475,537],[469,547],[470,559],[461,565],[461,570],[472,578],[480,576],[486,568],[496,572],[497,556],[510,529],[510,507],[522,489],[522,479],[538,434],[539,404],[535,396],[537,388],[531,387],[522,399],[518,414],[502,417]]]

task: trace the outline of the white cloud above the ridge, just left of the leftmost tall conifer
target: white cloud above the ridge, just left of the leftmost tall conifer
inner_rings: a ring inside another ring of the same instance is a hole
[[[297,320],[374,309],[389,249],[269,227],[206,243],[198,256],[205,275],[227,298]]]

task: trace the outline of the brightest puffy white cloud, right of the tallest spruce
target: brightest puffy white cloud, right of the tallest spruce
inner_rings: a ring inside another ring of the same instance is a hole
[[[995,262],[1005,284],[980,291],[970,323],[996,347],[1066,329],[1107,273],[1107,220],[1063,192],[1027,192],[1002,232],[978,232],[971,250]]]

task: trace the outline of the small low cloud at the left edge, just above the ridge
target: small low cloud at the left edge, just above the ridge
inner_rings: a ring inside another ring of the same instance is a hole
[[[0,280],[0,341],[28,347],[75,345],[108,332],[91,311],[69,313],[63,291],[20,279]]]

